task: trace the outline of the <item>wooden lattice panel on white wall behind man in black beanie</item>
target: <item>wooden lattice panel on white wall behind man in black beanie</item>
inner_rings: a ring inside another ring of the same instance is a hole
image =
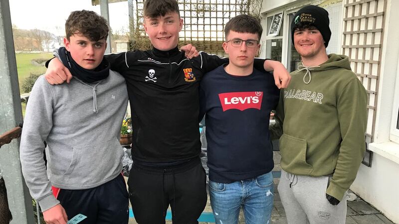
[[[376,119],[386,1],[344,0],[342,52],[349,56],[352,71],[356,73],[367,90],[369,102],[366,134],[372,140]]]

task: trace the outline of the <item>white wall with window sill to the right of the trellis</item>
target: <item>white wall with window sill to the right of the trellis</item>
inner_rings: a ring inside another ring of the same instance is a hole
[[[399,223],[399,129],[395,125],[399,110],[399,1],[375,1],[386,5],[380,38],[380,72],[377,74],[376,94],[372,97],[377,102],[373,139],[369,144],[373,160],[371,167],[361,165],[351,190],[394,223]]]

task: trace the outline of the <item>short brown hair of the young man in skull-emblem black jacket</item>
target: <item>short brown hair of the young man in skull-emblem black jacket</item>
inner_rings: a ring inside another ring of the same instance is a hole
[[[176,12],[180,16],[177,0],[146,0],[144,2],[144,16],[156,18],[170,12]]]

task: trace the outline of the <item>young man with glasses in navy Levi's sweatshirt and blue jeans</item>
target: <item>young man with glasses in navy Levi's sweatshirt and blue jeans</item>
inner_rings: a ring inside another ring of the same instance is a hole
[[[229,63],[204,75],[200,119],[205,113],[209,196],[216,223],[269,223],[273,209],[273,152],[268,131],[279,90],[271,75],[253,67],[262,27],[249,15],[227,22]]]

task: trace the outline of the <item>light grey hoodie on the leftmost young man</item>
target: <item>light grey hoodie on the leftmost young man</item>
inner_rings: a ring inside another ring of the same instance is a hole
[[[51,186],[89,189],[120,175],[124,152],[119,135],[127,103],[125,79],[114,71],[91,84],[73,78],[53,86],[44,76],[37,79],[19,150],[26,185],[42,211],[59,204]]]

